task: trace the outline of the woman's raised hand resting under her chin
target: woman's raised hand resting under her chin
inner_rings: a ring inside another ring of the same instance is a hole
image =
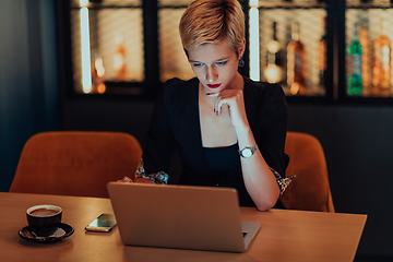
[[[230,121],[236,130],[249,127],[241,90],[224,90],[219,93],[209,93],[206,95],[216,97],[214,111],[217,116],[223,112],[223,107],[227,106]]]

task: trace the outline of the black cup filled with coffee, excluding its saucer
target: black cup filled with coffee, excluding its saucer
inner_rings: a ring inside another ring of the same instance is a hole
[[[62,210],[57,205],[35,205],[26,211],[28,226],[43,227],[61,223]]]

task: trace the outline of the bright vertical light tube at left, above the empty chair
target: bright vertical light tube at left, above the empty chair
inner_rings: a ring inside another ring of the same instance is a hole
[[[81,0],[81,5],[82,5]],[[86,0],[87,2],[87,0]],[[84,93],[92,92],[92,68],[88,28],[88,9],[81,9],[81,50],[82,50],[82,88]]]

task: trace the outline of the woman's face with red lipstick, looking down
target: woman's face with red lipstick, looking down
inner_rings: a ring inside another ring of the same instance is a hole
[[[243,53],[243,46],[239,55]],[[206,93],[218,93],[225,88],[236,88],[235,78],[239,58],[226,39],[203,44],[188,51],[189,62]]]

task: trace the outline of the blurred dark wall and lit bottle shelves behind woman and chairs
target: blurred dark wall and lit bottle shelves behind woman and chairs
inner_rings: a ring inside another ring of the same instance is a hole
[[[40,131],[123,131],[143,145],[163,83],[193,76],[177,29],[189,2],[0,0],[0,191]],[[325,151],[336,212],[368,215],[356,260],[392,261],[391,1],[240,2],[239,71],[283,86],[288,129]]]

